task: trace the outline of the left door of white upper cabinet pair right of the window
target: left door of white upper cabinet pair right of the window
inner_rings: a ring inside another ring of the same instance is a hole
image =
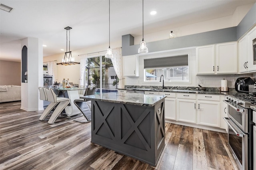
[[[214,74],[215,45],[196,47],[198,74]]]

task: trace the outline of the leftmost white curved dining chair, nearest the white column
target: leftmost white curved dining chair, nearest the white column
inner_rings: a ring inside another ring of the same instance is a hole
[[[45,87],[38,87],[38,89],[39,89],[39,93],[40,93],[40,100],[48,101],[47,100],[47,94],[46,94],[46,91],[45,91]],[[58,103],[51,102],[46,107],[46,109],[44,109],[44,112],[40,116],[39,121],[48,121],[48,119],[46,119],[46,117],[49,116],[49,114],[52,112],[54,107],[56,107],[56,105],[58,105]]]

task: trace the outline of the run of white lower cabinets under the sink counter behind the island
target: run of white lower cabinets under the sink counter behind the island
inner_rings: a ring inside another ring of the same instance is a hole
[[[227,124],[223,119],[227,117],[227,105],[223,102],[225,95],[158,91],[145,91],[144,94],[167,96],[164,106],[167,121],[180,121],[227,130]]]

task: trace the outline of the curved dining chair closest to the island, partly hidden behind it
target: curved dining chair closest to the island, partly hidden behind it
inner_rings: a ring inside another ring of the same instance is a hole
[[[90,89],[88,87],[88,88],[86,88],[84,96],[94,95],[94,92],[95,92],[95,87],[93,87],[92,89]],[[92,117],[91,104],[89,102],[90,101],[87,100],[87,99],[86,100],[85,99],[76,99],[76,100],[74,100],[74,104],[82,112],[82,114],[84,115],[84,117],[86,118],[86,120],[88,122],[92,121],[92,118],[91,118]],[[74,120],[74,121],[76,121],[76,120]],[[80,122],[80,121],[77,121],[77,122]]]

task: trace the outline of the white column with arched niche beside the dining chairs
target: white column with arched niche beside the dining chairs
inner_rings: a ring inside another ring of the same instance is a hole
[[[21,108],[25,111],[39,111],[43,108],[38,87],[43,86],[43,42],[38,38],[24,38],[22,47],[28,48],[28,83],[21,83]]]

